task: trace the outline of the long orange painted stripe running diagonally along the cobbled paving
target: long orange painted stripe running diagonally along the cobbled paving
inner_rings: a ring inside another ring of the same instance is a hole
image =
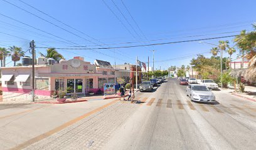
[[[29,139],[28,141],[24,142],[24,143],[21,143],[19,144],[18,146],[16,146],[15,148],[12,148],[12,150],[16,150],[16,149],[24,149],[26,147],[28,147],[29,145],[33,144],[33,143],[36,143],[37,141],[40,141],[42,139],[45,139],[47,138],[48,136],[51,136],[52,134],[55,134],[57,133],[58,131],[61,131],[62,129],[65,129],[67,128],[68,126],[71,126],[72,124],[75,124],[77,123],[78,121],[84,119],[84,118],[87,118],[88,116],[92,115],[92,114],[95,114],[95,113],[98,113],[99,111],[101,111],[102,109],[104,108],[107,108],[109,107],[110,105],[114,104],[114,103],[117,103],[119,102],[119,100],[115,100],[115,101],[112,101],[108,104],[105,104],[104,106],[101,106],[100,108],[97,108],[97,109],[94,109],[93,111],[90,111],[89,113],[86,113],[86,114],[83,114],[82,116],[79,116],[78,118],[75,118],[75,119],[72,119],[71,121],[68,121],[67,123],[65,124],[62,124],[61,126],[58,126],[57,128],[55,129],[52,129],[46,133],[43,133],[39,136],[36,136],[35,138],[32,138],[32,139]]]

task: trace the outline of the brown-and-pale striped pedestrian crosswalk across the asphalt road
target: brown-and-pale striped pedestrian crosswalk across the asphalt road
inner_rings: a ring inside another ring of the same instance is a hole
[[[251,106],[243,105],[236,106],[235,104],[230,104],[229,106],[223,106],[223,104],[203,104],[203,103],[193,103],[189,100],[181,101],[176,99],[163,99],[163,98],[136,98],[136,101],[140,101],[141,106],[156,106],[157,108],[166,107],[167,109],[179,109],[184,110],[185,108],[191,109],[192,111],[203,111],[206,113],[228,113],[228,114],[238,114],[237,111],[242,111],[243,114],[247,116],[255,115],[253,113],[248,113],[250,111],[255,112],[256,109]]]

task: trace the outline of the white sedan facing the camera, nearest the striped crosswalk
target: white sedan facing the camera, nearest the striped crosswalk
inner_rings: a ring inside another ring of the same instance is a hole
[[[215,95],[205,85],[189,84],[186,88],[186,95],[191,101],[215,103]]]

